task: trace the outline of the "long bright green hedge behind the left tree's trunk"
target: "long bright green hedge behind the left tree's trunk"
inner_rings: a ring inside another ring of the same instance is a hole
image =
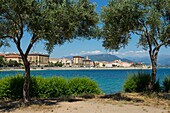
[[[22,75],[0,79],[0,99],[21,99]],[[30,97],[55,98],[67,95],[100,94],[96,82],[89,78],[64,79],[62,77],[31,77]]]

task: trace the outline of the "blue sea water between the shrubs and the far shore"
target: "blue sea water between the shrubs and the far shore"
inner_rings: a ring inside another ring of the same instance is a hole
[[[128,74],[138,72],[151,73],[151,70],[33,70],[31,71],[31,76],[89,77],[99,84],[104,93],[111,94],[122,92],[123,84]],[[0,71],[1,78],[16,74],[24,74],[24,71]],[[160,83],[162,83],[165,76],[170,76],[170,68],[160,68],[157,70],[157,79],[160,80]]]

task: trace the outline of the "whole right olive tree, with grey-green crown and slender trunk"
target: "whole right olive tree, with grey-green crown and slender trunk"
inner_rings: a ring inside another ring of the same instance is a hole
[[[149,49],[153,89],[157,56],[162,46],[170,46],[169,0],[111,0],[101,12],[103,46],[110,50],[125,47],[132,34],[139,36],[138,45]]]

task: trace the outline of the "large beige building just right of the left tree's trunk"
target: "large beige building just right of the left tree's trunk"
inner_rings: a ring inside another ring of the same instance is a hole
[[[42,53],[30,53],[28,61],[32,66],[46,66],[49,62],[49,55]]]

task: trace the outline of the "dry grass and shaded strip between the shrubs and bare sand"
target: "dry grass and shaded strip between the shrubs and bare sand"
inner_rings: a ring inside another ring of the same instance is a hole
[[[88,96],[89,97],[89,96]],[[92,96],[93,97],[93,96]],[[92,103],[102,103],[105,105],[116,105],[118,107],[124,107],[125,105],[134,106],[148,106],[153,108],[159,108],[167,110],[170,113],[170,93],[160,93],[160,94],[140,94],[140,93],[117,93],[112,95],[98,95],[93,98],[83,97],[71,97],[71,98],[55,98],[55,99],[33,99],[30,106],[22,106],[21,101],[0,101],[0,112],[14,112],[15,110],[25,110],[27,111],[51,111],[55,109],[60,109],[63,106],[60,102],[78,102],[87,101]],[[76,108],[77,109],[77,108]],[[146,108],[143,107],[143,111]]]

